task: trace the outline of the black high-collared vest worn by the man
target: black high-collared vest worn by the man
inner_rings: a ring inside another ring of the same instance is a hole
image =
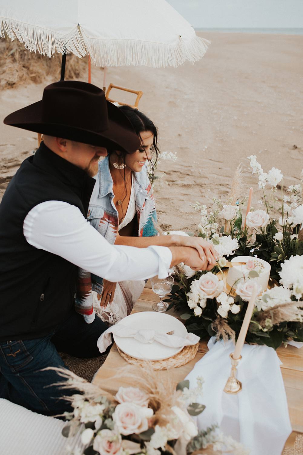
[[[31,246],[23,221],[37,204],[52,200],[75,205],[86,217],[94,183],[43,142],[12,178],[0,204],[1,341],[42,337],[74,311],[77,267]]]

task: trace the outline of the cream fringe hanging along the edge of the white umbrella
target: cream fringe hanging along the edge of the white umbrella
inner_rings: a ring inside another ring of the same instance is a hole
[[[0,37],[5,34],[11,40],[17,38],[33,52],[52,57],[55,52],[73,53],[83,57],[89,53],[96,66],[144,65],[154,68],[183,65],[185,61],[201,59],[209,41],[193,35],[189,42],[181,36],[176,45],[126,39],[92,39],[85,35],[81,26],[62,35],[17,20],[0,17]]]

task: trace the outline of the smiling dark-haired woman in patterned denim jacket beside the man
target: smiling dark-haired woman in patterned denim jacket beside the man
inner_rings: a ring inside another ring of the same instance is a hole
[[[153,169],[152,162],[157,161],[158,131],[137,109],[129,106],[120,109],[134,126],[141,146],[131,154],[108,150],[108,156],[99,163],[87,219],[109,243],[138,248],[189,246],[196,248],[201,258],[215,263],[214,248],[203,238],[158,235],[154,196],[146,167],[149,162]],[[131,312],[144,284],[144,281],[111,283],[80,269],[76,309],[88,323],[94,320],[94,307],[102,320],[115,324]]]

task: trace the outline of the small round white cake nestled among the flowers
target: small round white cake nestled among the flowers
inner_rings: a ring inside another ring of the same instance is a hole
[[[251,270],[258,273],[255,279],[260,283],[265,291],[268,288],[268,280],[270,274],[270,264],[263,259],[254,258],[253,256],[237,256],[231,260],[233,262],[245,262],[243,265],[234,265],[228,269],[227,284],[232,288],[236,288],[246,278]],[[242,279],[241,279],[242,278]],[[236,283],[236,284],[235,284]]]

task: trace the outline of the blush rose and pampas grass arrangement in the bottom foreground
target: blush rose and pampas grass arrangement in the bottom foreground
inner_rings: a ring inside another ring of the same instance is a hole
[[[62,430],[66,437],[80,432],[81,445],[74,449],[68,445],[65,453],[161,455],[169,450],[171,442],[176,455],[191,454],[194,450],[190,449],[190,445],[203,454],[204,448],[209,445],[223,450],[228,441],[228,445],[239,450],[242,448],[237,453],[246,454],[242,445],[219,433],[216,425],[198,430],[193,416],[199,415],[205,408],[197,402],[202,396],[201,377],[197,378],[196,388],[190,389],[189,381],[184,380],[174,392],[168,394],[167,385],[159,383],[152,367],[147,364],[144,369],[144,379],[134,377],[140,388],[120,387],[112,398],[103,396],[103,390],[97,385],[87,383],[68,370],[55,369],[68,379],[70,387],[83,392],[71,397],[73,411],[65,413],[69,423]],[[144,387],[145,390],[142,389]],[[205,443],[205,437],[209,442]]]

